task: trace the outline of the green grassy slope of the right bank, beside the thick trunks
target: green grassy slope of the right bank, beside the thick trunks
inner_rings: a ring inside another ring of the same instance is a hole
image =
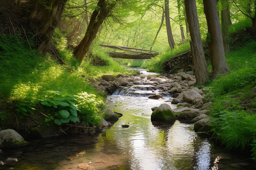
[[[231,70],[209,84],[215,137],[230,150],[256,156],[256,42],[251,40],[226,55]]]

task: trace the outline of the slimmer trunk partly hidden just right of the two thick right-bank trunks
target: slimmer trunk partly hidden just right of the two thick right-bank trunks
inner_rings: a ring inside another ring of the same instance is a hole
[[[221,28],[222,39],[225,53],[229,53],[229,21],[228,21],[228,0],[222,0],[221,3]]]

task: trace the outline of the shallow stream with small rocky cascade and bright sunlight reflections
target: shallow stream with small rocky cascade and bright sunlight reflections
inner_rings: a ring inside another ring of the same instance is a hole
[[[147,98],[159,93],[162,99]],[[111,128],[98,135],[42,138],[24,147],[2,149],[0,160],[9,161],[0,162],[0,169],[256,169],[246,156],[199,137],[193,124],[176,120],[153,125],[151,108],[163,103],[176,108],[169,94],[145,78],[143,84],[108,96],[106,104],[123,114]]]

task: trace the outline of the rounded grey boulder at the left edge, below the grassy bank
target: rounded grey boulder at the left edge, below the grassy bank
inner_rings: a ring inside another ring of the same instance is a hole
[[[24,145],[24,138],[13,129],[0,130],[0,147]]]

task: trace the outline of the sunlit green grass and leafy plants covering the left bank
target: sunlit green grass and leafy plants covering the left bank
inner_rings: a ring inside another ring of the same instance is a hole
[[[108,66],[93,66],[89,59],[80,65],[65,45],[63,36],[55,36],[54,41],[58,42],[60,56],[73,71],[53,61],[49,55],[44,57],[36,50],[31,52],[27,41],[21,37],[17,40],[14,36],[0,35],[0,79],[3,82],[0,83],[0,129],[10,128],[5,126],[9,126],[6,120],[11,117],[22,122],[27,117],[38,117],[39,112],[49,117],[40,124],[54,121],[57,125],[68,122],[98,125],[105,94],[99,94],[90,86],[89,79],[104,74],[133,73],[112,59],[108,59]],[[94,53],[106,58],[104,53]]]

